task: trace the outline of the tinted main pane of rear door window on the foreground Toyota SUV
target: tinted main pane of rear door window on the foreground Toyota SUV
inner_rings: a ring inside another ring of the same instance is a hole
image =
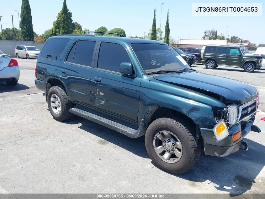
[[[96,41],[78,41],[74,54],[73,64],[91,67]],[[71,53],[71,52],[70,52]]]

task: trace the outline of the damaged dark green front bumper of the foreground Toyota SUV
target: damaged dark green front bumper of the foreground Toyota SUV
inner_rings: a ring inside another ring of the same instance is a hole
[[[261,130],[253,125],[254,117],[248,120],[245,124],[237,124],[229,129],[229,135],[216,142],[213,129],[200,128],[201,136],[204,141],[204,152],[206,155],[224,157],[237,152],[239,149],[247,150],[248,146],[242,139],[250,132],[261,132]],[[232,142],[232,136],[234,133],[241,131],[241,138]]]

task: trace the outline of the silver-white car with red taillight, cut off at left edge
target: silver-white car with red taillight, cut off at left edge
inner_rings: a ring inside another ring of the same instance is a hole
[[[19,64],[16,59],[8,57],[0,51],[0,82],[5,81],[8,86],[16,86],[19,80]]]

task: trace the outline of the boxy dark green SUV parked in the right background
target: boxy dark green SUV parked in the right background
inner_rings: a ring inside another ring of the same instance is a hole
[[[238,66],[251,73],[262,67],[262,57],[245,55],[239,46],[207,45],[201,63],[207,69],[215,69],[219,65]]]

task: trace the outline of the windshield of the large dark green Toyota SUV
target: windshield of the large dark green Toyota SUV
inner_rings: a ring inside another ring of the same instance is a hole
[[[146,73],[157,70],[189,68],[185,60],[172,47],[163,44],[131,44]]]

